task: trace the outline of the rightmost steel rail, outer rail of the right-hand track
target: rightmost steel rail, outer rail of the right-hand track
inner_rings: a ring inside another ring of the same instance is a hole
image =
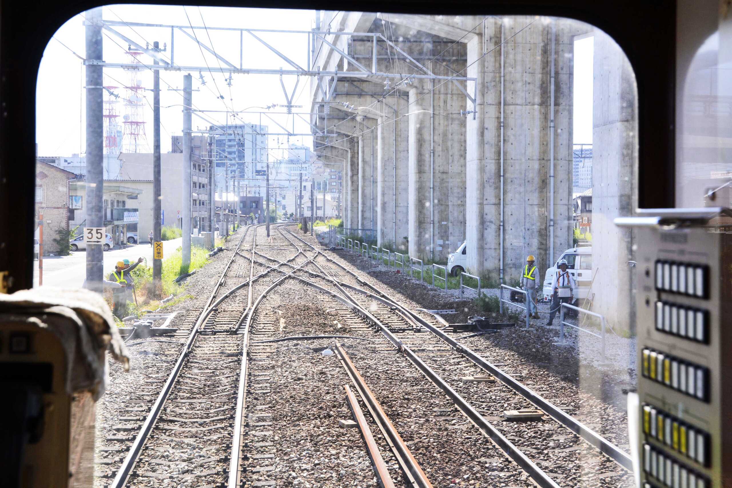
[[[286,230],[288,230],[288,232],[290,232],[289,229],[286,229]],[[295,236],[295,237],[297,238],[297,236]],[[303,242],[305,242],[305,244],[309,244],[311,247],[313,247],[312,244],[307,243],[307,241],[303,241]],[[313,247],[313,249],[315,249],[315,248]],[[346,269],[345,266],[341,265],[340,263],[333,260],[332,258],[329,258],[328,256],[326,256],[324,253],[322,253],[320,251],[318,251],[318,254],[322,255],[330,263],[333,263],[336,266],[338,266],[340,269],[343,269],[343,271],[346,271],[348,274],[350,274],[352,277],[354,277],[354,279],[356,279],[357,282],[362,283],[370,290],[373,290],[375,293],[378,293],[378,296],[374,295],[373,293],[368,293],[366,290],[362,290],[360,288],[354,287],[353,285],[348,285],[347,283],[341,282],[341,285],[343,285],[344,287],[349,288],[351,290],[354,290],[357,293],[362,293],[366,296],[370,296],[370,298],[376,299],[376,300],[380,301],[382,304],[385,304],[389,307],[395,307],[397,310],[401,310],[403,312],[402,315],[404,315],[404,314],[408,315],[412,319],[411,321],[413,321],[413,323],[416,323],[419,326],[425,327],[425,329],[427,329],[430,332],[432,332],[433,334],[435,334],[437,337],[442,339],[444,342],[447,342],[447,344],[451,345],[453,348],[458,350],[460,353],[465,354],[468,357],[468,359],[470,359],[471,361],[474,362],[474,364],[477,364],[477,366],[481,367],[485,371],[490,372],[491,375],[498,378],[498,380],[501,380],[502,383],[509,386],[509,388],[512,388],[522,397],[528,399],[530,402],[532,402],[534,405],[536,405],[537,408],[544,410],[546,413],[548,413],[549,416],[554,418],[554,420],[556,420],[560,424],[564,425],[564,427],[567,427],[569,430],[574,432],[576,435],[579,435],[587,443],[591,444],[591,446],[594,446],[595,448],[600,450],[600,452],[602,452],[602,454],[605,454],[606,456],[610,457],[610,459],[613,459],[623,468],[626,468],[627,470],[632,471],[632,459],[631,459],[630,455],[627,454],[625,451],[623,451],[621,448],[619,448],[615,444],[611,443],[609,440],[603,438],[602,435],[598,434],[597,432],[594,432],[594,430],[590,429],[585,424],[578,421],[576,418],[565,413],[564,410],[561,410],[561,408],[557,407],[552,402],[549,402],[547,399],[543,398],[541,395],[537,394],[536,391],[531,390],[531,388],[523,385],[523,383],[520,383],[520,381],[516,380],[515,378],[512,378],[511,375],[509,375],[507,372],[504,372],[502,369],[496,367],[494,364],[491,364],[490,361],[486,361],[478,353],[475,353],[473,350],[468,348],[468,346],[460,344],[460,342],[453,339],[452,337],[449,337],[449,335],[445,334],[440,329],[438,329],[435,326],[433,326],[432,324],[428,323],[427,320],[423,319],[422,317],[419,317],[419,315],[417,315],[410,309],[407,309],[406,307],[403,307],[402,305],[398,304],[396,301],[389,299],[386,295],[384,295],[383,292],[381,292],[381,290],[378,290],[377,288],[373,287],[373,285],[370,285],[369,283],[365,282],[363,279],[360,279],[359,277],[357,277],[356,274],[354,274],[354,272],[351,271],[350,269]],[[307,270],[305,270],[305,271],[307,271]],[[334,278],[331,278],[331,279],[334,279]],[[335,280],[335,281],[337,281],[337,280]]]

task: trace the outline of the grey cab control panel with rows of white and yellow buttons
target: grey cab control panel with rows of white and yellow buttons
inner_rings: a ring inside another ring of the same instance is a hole
[[[638,242],[643,488],[732,486],[731,216],[722,208],[646,209],[615,221],[635,228]]]

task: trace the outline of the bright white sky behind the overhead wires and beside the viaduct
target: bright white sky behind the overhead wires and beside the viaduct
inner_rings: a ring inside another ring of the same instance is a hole
[[[187,15],[186,15],[187,14]],[[312,10],[266,10],[266,9],[244,9],[224,7],[171,7],[157,5],[113,5],[103,7],[102,18],[107,20],[122,20],[127,22],[142,23],[166,23],[186,26],[189,23],[193,26],[217,27],[250,27],[255,29],[288,29],[288,30],[310,30],[315,23],[315,12]],[[84,56],[84,28],[81,25],[83,15],[77,15],[68,20],[56,32],[56,39],[67,45],[80,56]],[[121,34],[146,45],[149,42],[167,44],[167,52],[163,53],[168,59],[171,56],[171,30],[158,27],[128,27],[116,28]],[[235,66],[239,66],[239,33],[232,31],[212,31],[206,34],[205,30],[196,30],[199,40],[207,45],[213,45],[214,50],[223,56],[224,59]],[[127,63],[130,56],[125,53],[127,43],[106,33],[102,39],[104,42],[104,59],[108,62]],[[210,36],[210,39],[209,39]],[[273,45],[285,56],[301,66],[307,64],[307,37],[305,34],[274,34],[258,33],[261,39]],[[574,91],[574,141],[575,143],[592,142],[592,38],[586,38],[575,42],[575,91]],[[149,62],[147,56],[141,56],[143,62]],[[175,64],[189,66],[205,66],[206,60],[209,67],[218,67],[219,61],[207,53],[203,53],[193,40],[188,39],[181,31],[175,34]],[[275,53],[264,48],[253,37],[244,37],[244,67],[266,67],[279,69],[288,67],[288,64],[280,59]],[[222,66],[226,66],[222,64]],[[161,70],[160,75],[160,105],[161,112],[161,145],[162,151],[171,149],[171,135],[180,135],[182,129],[182,107],[171,106],[182,103],[180,91],[171,91],[170,88],[180,89],[183,85],[183,72],[166,72]],[[192,72],[193,89],[200,90],[193,92],[194,108],[206,110],[243,110],[252,106],[264,107],[274,103],[285,102],[280,79],[278,75],[234,75],[231,88],[225,81],[228,75],[203,72],[203,79],[206,82],[202,86],[198,72]],[[138,72],[138,78],[142,85],[152,89],[152,71],[144,67]],[[130,72],[121,69],[105,69],[105,86],[125,86],[130,83]],[[292,91],[296,78],[294,76],[283,77],[288,91]],[[56,40],[51,40],[40,64],[37,80],[37,124],[36,140],[38,143],[38,154],[40,156],[70,156],[74,153],[84,151],[85,141],[83,139],[84,102],[83,102],[83,67],[81,59],[78,59],[69,49],[65,48]],[[294,105],[303,105],[295,111],[307,111],[309,105],[309,80],[302,78],[297,87]],[[117,113],[121,121],[124,115],[124,100],[128,96],[127,90],[120,88],[114,90],[120,95],[120,102],[116,105]],[[143,107],[143,119],[146,124],[146,136],[148,146],[152,149],[152,91],[145,91],[146,102]],[[223,100],[220,99],[223,95]],[[106,100],[105,94],[105,100]],[[260,110],[252,108],[250,110]],[[272,111],[281,111],[277,108]],[[203,114],[209,120],[217,124],[226,124],[225,113]],[[293,127],[293,116],[275,116],[276,120],[288,129]],[[286,117],[286,118],[285,118]],[[241,116],[244,121],[258,124],[259,115]],[[307,116],[306,116],[307,118]],[[242,123],[239,119],[229,119],[230,123]],[[268,125],[270,130],[277,129],[275,122],[261,116],[261,124]],[[193,117],[193,129],[206,128],[208,122]],[[294,128],[296,132],[310,132],[310,127],[295,117]],[[282,131],[283,132],[283,131]],[[298,143],[311,146],[311,137],[293,137],[288,140],[286,136],[279,138],[272,137],[269,142],[270,160],[281,156],[282,152],[277,148],[285,148],[288,143]]]

